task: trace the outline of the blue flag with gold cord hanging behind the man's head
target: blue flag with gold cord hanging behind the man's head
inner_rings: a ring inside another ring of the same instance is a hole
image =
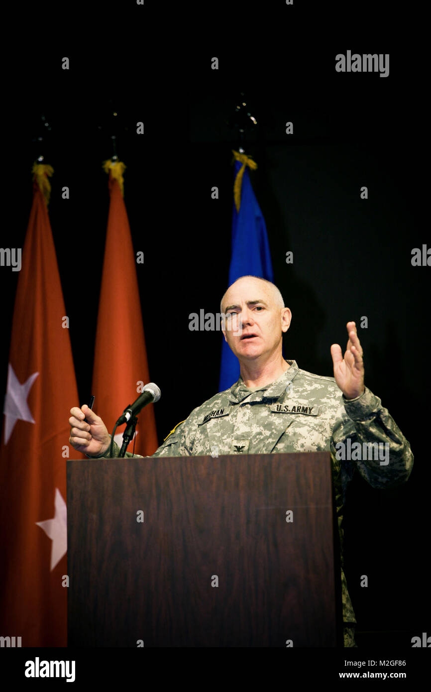
[[[235,161],[235,177],[241,166],[241,161]],[[273,281],[273,265],[271,264],[265,219],[253,192],[247,166],[242,179],[239,212],[237,212],[235,201],[233,203],[229,286],[240,276],[246,274],[253,274],[262,279]],[[232,387],[238,378],[238,358],[232,353],[223,338],[219,392]]]

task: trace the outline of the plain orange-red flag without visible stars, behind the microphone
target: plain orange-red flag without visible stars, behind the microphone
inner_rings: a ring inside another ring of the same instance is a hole
[[[136,257],[122,198],[124,163],[104,163],[109,172],[109,216],[100,289],[93,367],[94,411],[109,432],[122,410],[133,403],[150,381],[147,349],[136,277]],[[115,177],[114,177],[115,176]],[[116,430],[121,448],[125,425]],[[134,440],[128,451],[133,449]],[[158,448],[154,404],[139,414],[135,453],[152,455]]]

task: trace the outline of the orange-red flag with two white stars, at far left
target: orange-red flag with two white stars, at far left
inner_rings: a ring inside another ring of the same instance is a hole
[[[0,447],[0,635],[21,637],[21,646],[66,646],[66,458],[78,399],[44,197],[53,169],[35,164],[33,173]]]

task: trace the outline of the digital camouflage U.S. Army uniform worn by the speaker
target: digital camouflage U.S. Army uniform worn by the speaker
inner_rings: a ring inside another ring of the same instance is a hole
[[[355,468],[373,488],[393,487],[409,477],[412,451],[394,419],[368,388],[348,401],[333,377],[301,370],[296,361],[287,363],[291,367],[271,384],[250,390],[240,377],[230,389],[215,394],[178,424],[152,456],[330,451],[343,567],[342,511]],[[366,460],[338,460],[336,444],[347,444],[347,438],[351,444],[359,442],[361,448],[363,442],[389,443],[389,464],[381,465],[374,453]],[[113,456],[118,453],[114,442]],[[126,456],[133,455],[127,452]],[[356,646],[356,618],[342,569],[341,581],[344,645]]]

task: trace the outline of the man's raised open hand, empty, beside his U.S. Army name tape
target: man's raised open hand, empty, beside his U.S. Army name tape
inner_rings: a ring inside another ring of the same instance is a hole
[[[356,399],[365,391],[363,349],[360,345],[355,322],[347,322],[349,340],[345,357],[342,357],[341,346],[331,346],[333,376],[346,399]]]

